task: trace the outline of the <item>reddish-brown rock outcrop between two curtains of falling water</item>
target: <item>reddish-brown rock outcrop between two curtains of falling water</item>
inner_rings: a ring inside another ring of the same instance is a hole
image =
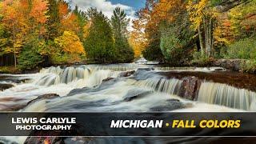
[[[182,78],[182,85],[178,91],[178,95],[182,98],[195,100],[201,86],[201,80],[197,77]]]

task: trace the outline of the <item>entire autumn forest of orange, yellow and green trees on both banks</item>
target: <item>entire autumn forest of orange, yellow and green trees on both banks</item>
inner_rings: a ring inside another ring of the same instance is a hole
[[[256,0],[146,0],[130,19],[63,0],[0,1],[0,66],[26,70],[144,57],[172,66],[246,59],[256,69]]]

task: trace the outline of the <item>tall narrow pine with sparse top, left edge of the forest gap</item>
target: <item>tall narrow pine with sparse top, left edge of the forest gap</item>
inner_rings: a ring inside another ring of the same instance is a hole
[[[114,9],[111,17],[111,26],[114,31],[114,46],[118,53],[118,62],[131,62],[134,59],[134,50],[127,39],[127,26],[130,19],[126,18],[120,7]]]

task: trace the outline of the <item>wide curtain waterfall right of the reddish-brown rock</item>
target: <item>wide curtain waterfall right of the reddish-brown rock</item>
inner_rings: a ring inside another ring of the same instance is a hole
[[[255,109],[256,93],[234,86],[214,82],[202,82],[198,101],[242,110]]]

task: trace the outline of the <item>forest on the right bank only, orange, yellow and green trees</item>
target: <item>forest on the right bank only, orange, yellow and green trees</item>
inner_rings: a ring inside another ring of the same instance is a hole
[[[256,68],[255,0],[147,0],[137,15],[134,34],[146,59],[207,66],[238,58],[248,60],[245,70]]]

